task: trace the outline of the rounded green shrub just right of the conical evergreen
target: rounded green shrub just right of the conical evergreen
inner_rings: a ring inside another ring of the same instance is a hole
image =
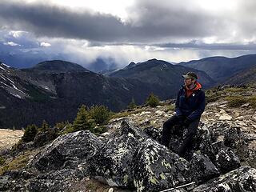
[[[110,110],[106,106],[91,106],[89,110],[90,117],[97,124],[104,124],[110,119]]]

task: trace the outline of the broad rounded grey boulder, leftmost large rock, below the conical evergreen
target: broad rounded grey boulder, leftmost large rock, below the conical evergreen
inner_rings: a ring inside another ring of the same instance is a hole
[[[89,130],[81,130],[71,134],[62,135],[46,146],[38,154],[33,166],[40,171],[60,169],[66,161],[84,160],[94,155],[102,146],[102,142]]]

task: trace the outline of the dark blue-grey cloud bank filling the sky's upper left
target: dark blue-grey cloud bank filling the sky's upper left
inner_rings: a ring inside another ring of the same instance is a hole
[[[1,26],[28,30],[38,36],[112,41],[116,35],[120,38],[126,28],[108,14],[81,14],[57,6],[12,1],[1,1],[0,6]]]

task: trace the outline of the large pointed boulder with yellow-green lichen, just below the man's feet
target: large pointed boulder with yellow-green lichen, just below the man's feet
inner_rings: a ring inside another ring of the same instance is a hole
[[[134,155],[137,191],[159,191],[190,182],[189,163],[165,146],[147,139]]]

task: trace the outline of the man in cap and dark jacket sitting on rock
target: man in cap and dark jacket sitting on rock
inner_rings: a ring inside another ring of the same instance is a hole
[[[196,74],[188,72],[182,77],[185,84],[178,91],[175,103],[176,114],[163,123],[162,145],[169,147],[170,134],[176,132],[174,131],[175,125],[178,125],[178,129],[185,126],[188,129],[186,138],[178,150],[178,155],[184,157],[197,133],[201,114],[205,110],[206,98],[201,84],[197,82],[198,76]]]

